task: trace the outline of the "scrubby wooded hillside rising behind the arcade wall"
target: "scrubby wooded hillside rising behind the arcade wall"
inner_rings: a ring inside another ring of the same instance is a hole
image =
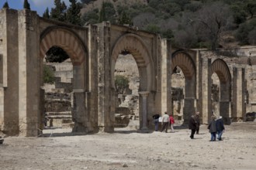
[[[81,0],[83,25],[129,24],[183,48],[256,44],[256,1]]]

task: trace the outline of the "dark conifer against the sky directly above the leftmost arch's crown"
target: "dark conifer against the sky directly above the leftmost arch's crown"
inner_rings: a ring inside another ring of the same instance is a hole
[[[61,3],[61,0],[54,0],[54,8],[51,8],[50,19],[65,22],[67,6],[65,2]]]

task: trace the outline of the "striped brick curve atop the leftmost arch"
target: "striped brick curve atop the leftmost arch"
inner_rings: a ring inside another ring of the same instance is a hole
[[[40,37],[40,57],[44,57],[52,46],[60,46],[71,57],[73,65],[80,65],[85,60],[85,47],[81,40],[66,29],[50,29]]]

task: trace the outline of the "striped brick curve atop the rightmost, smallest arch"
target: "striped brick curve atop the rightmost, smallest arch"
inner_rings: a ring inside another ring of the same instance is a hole
[[[221,83],[230,83],[231,76],[227,63],[223,59],[216,59],[211,66],[212,73],[216,73],[219,76]]]

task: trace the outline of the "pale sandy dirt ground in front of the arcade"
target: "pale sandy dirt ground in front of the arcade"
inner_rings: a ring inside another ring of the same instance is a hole
[[[180,127],[175,133],[116,128],[87,135],[47,129],[40,138],[5,138],[0,169],[256,169],[256,122],[225,128],[223,141],[209,141],[206,125],[193,140]]]

